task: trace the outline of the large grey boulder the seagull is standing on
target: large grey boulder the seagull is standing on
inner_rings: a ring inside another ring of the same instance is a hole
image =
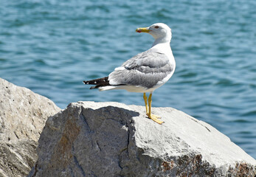
[[[29,176],[255,176],[256,161],[211,125],[173,108],[71,103],[46,121]]]

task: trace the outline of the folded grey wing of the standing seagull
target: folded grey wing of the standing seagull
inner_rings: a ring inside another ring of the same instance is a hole
[[[111,85],[143,86],[152,88],[173,71],[167,55],[151,49],[125,61],[111,72],[108,80]]]

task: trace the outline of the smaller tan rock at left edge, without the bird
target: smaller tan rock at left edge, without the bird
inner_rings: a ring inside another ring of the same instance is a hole
[[[46,119],[60,111],[30,89],[0,78],[0,176],[27,176]]]

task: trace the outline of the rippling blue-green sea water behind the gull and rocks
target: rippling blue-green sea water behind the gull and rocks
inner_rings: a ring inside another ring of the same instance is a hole
[[[151,47],[137,27],[172,28],[176,72],[153,93],[256,158],[256,1],[0,0],[0,77],[53,100],[144,105],[142,94],[89,90]]]

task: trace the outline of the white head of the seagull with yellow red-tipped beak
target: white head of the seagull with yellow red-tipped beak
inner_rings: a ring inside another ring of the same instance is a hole
[[[159,41],[159,43],[170,43],[170,40],[172,38],[172,32],[170,27],[162,23],[152,24],[150,27],[137,28],[136,32],[148,32],[153,36],[156,41]]]

